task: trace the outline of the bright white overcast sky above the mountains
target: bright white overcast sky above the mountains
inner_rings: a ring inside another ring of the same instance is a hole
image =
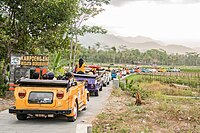
[[[87,23],[108,33],[200,47],[200,0],[111,0]]]

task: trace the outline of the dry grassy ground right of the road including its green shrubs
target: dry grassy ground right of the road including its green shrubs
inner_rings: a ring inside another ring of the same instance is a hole
[[[109,104],[93,121],[93,132],[200,132],[199,88],[172,86],[149,75],[129,76],[114,89]],[[139,92],[145,105],[135,105]]]

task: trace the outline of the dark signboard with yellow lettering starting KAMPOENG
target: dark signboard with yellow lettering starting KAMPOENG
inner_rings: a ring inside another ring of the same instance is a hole
[[[21,66],[48,66],[47,55],[24,55],[20,58]]]

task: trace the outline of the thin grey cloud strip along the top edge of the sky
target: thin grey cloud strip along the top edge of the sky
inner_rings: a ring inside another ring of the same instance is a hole
[[[111,0],[111,5],[123,6],[130,2],[136,2],[136,1],[157,2],[157,3],[179,3],[179,4],[199,3],[200,2],[200,0]]]

